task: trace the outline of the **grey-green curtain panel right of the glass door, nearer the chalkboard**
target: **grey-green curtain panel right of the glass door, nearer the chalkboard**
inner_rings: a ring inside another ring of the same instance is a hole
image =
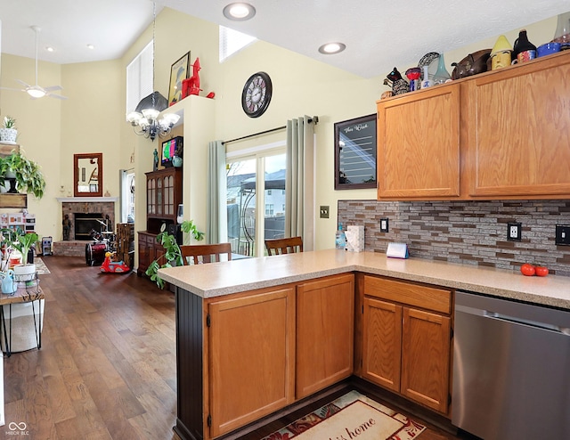
[[[303,238],[314,249],[314,124],[304,116],[287,121],[285,236]]]

